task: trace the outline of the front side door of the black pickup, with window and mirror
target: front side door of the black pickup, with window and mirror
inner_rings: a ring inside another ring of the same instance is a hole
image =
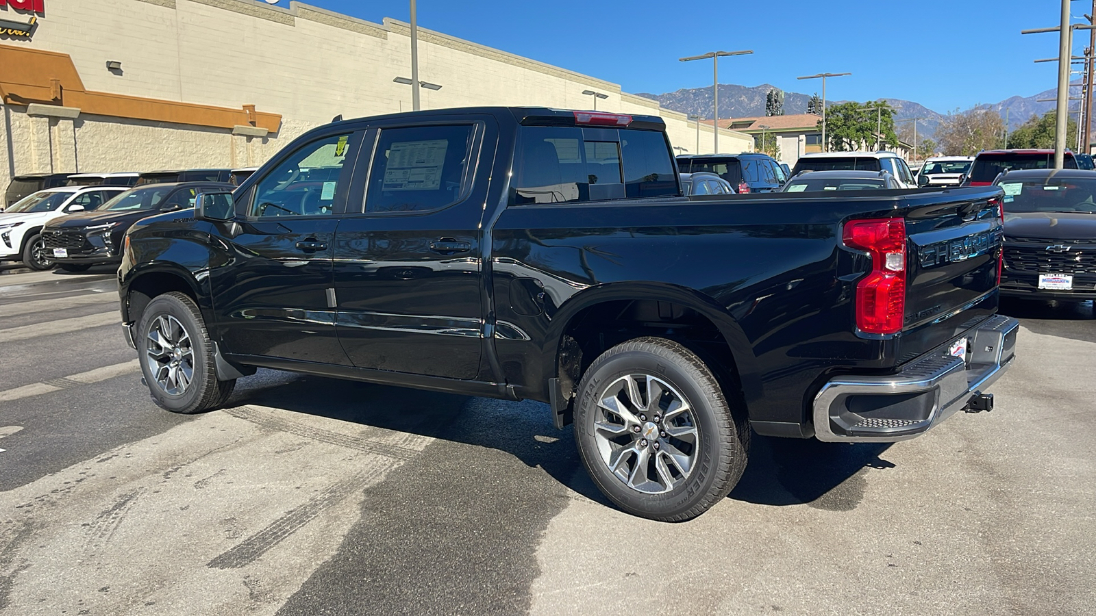
[[[283,153],[237,196],[236,220],[215,225],[213,241],[229,255],[210,266],[225,353],[349,364],[330,300],[332,255],[363,135],[334,133]]]

